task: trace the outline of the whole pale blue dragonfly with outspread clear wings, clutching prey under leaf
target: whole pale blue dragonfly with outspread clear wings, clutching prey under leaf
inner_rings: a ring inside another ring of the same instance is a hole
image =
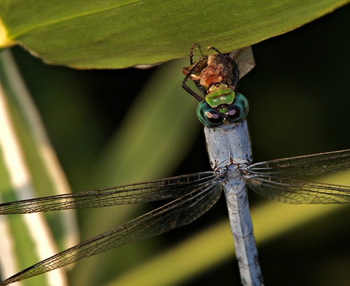
[[[194,48],[194,46],[193,46]],[[349,203],[350,187],[311,183],[299,178],[350,169],[350,150],[291,157],[252,164],[246,114],[248,101],[237,92],[239,78],[253,69],[251,48],[204,56],[183,69],[183,87],[200,101],[197,107],[212,171],[99,190],[43,196],[0,204],[0,215],[98,208],[172,199],[164,206],[48,257],[3,280],[9,285],[97,255],[132,241],[157,236],[193,222],[224,192],[243,285],[263,285],[247,186],[284,203]],[[186,85],[193,81],[200,95]],[[202,80],[202,81],[201,81]],[[218,103],[219,101],[219,103]]]

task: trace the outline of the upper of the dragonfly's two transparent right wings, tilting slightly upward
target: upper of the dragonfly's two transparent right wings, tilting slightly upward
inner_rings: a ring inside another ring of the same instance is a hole
[[[281,178],[318,176],[350,170],[350,149],[272,160],[248,166],[251,176],[269,174]]]

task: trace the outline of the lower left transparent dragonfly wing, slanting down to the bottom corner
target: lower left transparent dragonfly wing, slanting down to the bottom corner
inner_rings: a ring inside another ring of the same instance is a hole
[[[206,183],[161,208],[38,262],[4,280],[0,285],[8,285],[36,276],[71,264],[84,257],[90,257],[132,241],[156,236],[175,227],[193,222],[209,210],[218,201],[220,195],[221,185],[219,183]]]

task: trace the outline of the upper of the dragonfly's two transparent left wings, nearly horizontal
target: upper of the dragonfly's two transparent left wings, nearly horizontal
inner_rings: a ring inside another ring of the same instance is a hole
[[[68,210],[71,208],[99,208],[178,198],[201,185],[207,185],[216,178],[217,175],[214,172],[194,173],[119,187],[12,201],[0,204],[0,215]]]

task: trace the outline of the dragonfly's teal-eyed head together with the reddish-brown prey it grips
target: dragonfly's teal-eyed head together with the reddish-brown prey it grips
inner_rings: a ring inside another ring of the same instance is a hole
[[[195,45],[190,52],[191,66],[183,68],[186,75],[183,88],[200,101],[197,106],[198,119],[211,128],[228,122],[242,122],[248,115],[249,104],[243,94],[236,92],[240,77],[239,67],[234,60],[242,52],[221,54],[216,48],[209,47],[209,50],[216,50],[218,55],[201,57],[193,63],[194,47]],[[248,52],[251,50],[246,50]],[[252,69],[254,64],[250,65]],[[188,79],[193,80],[204,100],[186,85]]]

